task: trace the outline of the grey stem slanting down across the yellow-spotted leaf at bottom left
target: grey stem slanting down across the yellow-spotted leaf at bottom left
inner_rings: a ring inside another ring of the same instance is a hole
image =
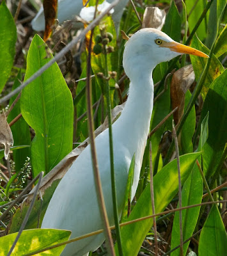
[[[24,230],[26,224],[27,224],[27,221],[28,221],[28,218],[31,214],[31,209],[33,209],[33,205],[35,204],[35,199],[36,199],[36,195],[37,195],[37,192],[38,192],[38,189],[40,188],[40,184],[41,184],[41,180],[42,180],[42,177],[43,177],[43,173],[44,172],[40,172],[40,174],[38,175],[38,184],[36,186],[36,189],[34,191],[34,195],[33,195],[33,200],[31,200],[31,204],[29,205],[29,208],[26,212],[26,216],[24,217],[24,221],[22,222],[21,226],[20,226],[20,229],[19,229],[19,232],[17,234],[17,237],[15,238],[15,240],[13,241],[13,244],[10,248],[10,251],[8,252],[7,256],[10,256],[11,253],[13,252],[13,249],[15,248],[16,244],[17,244],[17,241],[19,240],[20,238],[20,235],[22,233],[22,231]]]

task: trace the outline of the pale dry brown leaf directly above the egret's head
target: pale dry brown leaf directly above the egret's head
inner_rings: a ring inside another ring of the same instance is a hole
[[[143,15],[142,28],[162,29],[166,20],[166,12],[158,7],[146,7]]]

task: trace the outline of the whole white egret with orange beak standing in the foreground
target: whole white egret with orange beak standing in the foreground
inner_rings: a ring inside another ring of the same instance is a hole
[[[121,116],[113,124],[114,171],[119,215],[134,154],[132,198],[139,182],[153,109],[152,70],[160,62],[169,61],[182,53],[207,57],[203,52],[179,44],[165,33],[152,28],[137,31],[125,45],[123,67],[130,79],[129,97]],[[95,144],[109,223],[114,225],[108,129],[97,136]],[[59,182],[45,212],[42,228],[71,230],[71,238],[103,228],[89,145]],[[104,234],[88,237],[68,244],[62,255],[88,255],[88,252],[96,250],[103,242]]]

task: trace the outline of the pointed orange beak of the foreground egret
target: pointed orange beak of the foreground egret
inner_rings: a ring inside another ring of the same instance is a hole
[[[162,42],[160,47],[167,47],[171,51],[174,51],[174,52],[192,54],[192,55],[200,56],[203,58],[209,58],[209,56],[207,54],[205,54],[204,52],[198,51],[192,47],[189,47],[187,45],[180,44],[177,42]]]

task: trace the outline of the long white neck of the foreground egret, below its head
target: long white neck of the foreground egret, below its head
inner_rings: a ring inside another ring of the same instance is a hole
[[[153,109],[152,71],[130,77],[130,81],[129,97],[116,122],[117,136],[132,156],[143,157]]]

